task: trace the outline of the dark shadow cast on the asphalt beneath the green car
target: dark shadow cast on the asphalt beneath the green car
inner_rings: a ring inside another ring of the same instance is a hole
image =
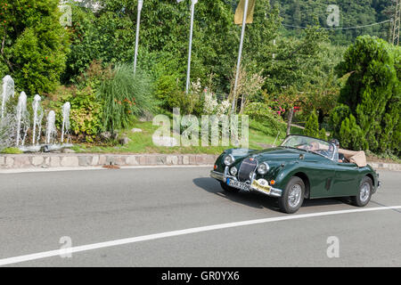
[[[220,183],[215,179],[209,177],[201,177],[193,179],[193,183],[199,188],[209,191],[209,193],[216,194],[219,197],[230,199],[235,203],[240,203],[253,208],[268,208],[270,210],[280,212],[278,202],[276,198],[267,197],[258,192],[245,192],[239,191],[237,193],[231,193],[224,191]],[[305,199],[302,207],[317,207],[326,205],[340,205],[349,204],[348,198],[336,198],[336,199]]]

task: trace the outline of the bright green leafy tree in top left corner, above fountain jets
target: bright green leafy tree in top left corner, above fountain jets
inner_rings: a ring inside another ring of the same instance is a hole
[[[65,68],[68,34],[60,24],[59,0],[3,0],[0,77],[10,74],[28,95],[51,92]]]

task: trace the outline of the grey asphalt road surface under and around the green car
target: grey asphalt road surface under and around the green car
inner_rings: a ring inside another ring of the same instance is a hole
[[[0,263],[59,249],[61,237],[79,247],[272,218],[5,266],[401,266],[401,208],[274,220],[288,216],[276,199],[226,194],[209,170],[0,174]],[[380,174],[383,186],[368,208],[401,206],[401,173]],[[307,200],[295,215],[349,209],[359,208],[347,199]],[[329,237],[335,237],[339,257],[327,255],[334,245]]]

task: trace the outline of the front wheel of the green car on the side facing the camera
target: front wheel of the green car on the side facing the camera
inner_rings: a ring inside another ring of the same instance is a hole
[[[293,214],[302,206],[304,196],[305,183],[299,177],[293,176],[282,192],[282,197],[278,199],[279,207],[282,212]]]

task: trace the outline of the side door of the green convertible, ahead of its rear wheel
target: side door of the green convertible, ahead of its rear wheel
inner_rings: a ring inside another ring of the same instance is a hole
[[[355,163],[337,162],[332,192],[334,196],[356,195],[359,187],[359,167]]]

